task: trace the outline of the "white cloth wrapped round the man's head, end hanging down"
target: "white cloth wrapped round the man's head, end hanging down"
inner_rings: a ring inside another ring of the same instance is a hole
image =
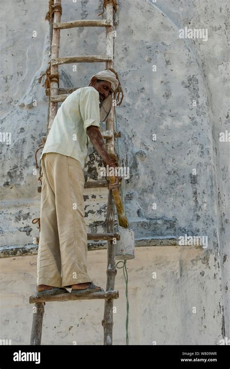
[[[90,82],[91,82],[93,77],[96,77],[98,80],[107,80],[107,81],[111,82],[111,88],[112,88],[113,92],[118,87],[119,82],[116,79],[115,74],[109,69],[101,70],[99,73],[92,76],[90,78]],[[111,106],[112,106],[112,94],[109,95],[107,98],[104,99],[104,101],[102,101],[100,103],[100,121],[101,122],[106,120],[106,118],[109,115],[109,112],[111,110]]]

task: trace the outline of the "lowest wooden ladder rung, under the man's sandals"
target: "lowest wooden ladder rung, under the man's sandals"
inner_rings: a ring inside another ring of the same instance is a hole
[[[45,303],[49,301],[73,301],[73,300],[96,300],[96,299],[118,299],[119,291],[104,291],[104,292],[91,292],[88,294],[83,294],[80,296],[72,295],[69,293],[59,293],[58,295],[46,296],[46,297],[36,297],[35,295],[30,296],[30,304],[34,303]]]

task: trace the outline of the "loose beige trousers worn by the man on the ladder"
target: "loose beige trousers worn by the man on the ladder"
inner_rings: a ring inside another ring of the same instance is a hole
[[[37,286],[68,287],[91,282],[87,274],[84,175],[80,161],[58,153],[41,159],[41,231]]]

